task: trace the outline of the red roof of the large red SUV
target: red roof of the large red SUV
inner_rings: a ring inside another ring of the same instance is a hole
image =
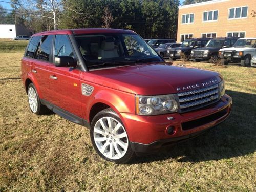
[[[92,34],[92,33],[126,33],[134,34],[134,31],[124,30],[124,29],[104,29],[104,28],[88,28],[88,29],[62,29],[62,30],[53,30],[45,31],[41,33],[36,33],[33,36],[39,35],[79,35],[79,34]]]

